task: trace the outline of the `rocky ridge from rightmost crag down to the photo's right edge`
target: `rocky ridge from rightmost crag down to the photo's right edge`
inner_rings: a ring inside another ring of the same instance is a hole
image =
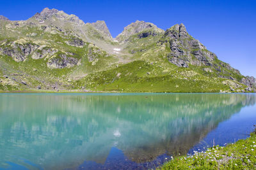
[[[216,71],[216,74],[221,78],[243,83],[248,86],[246,89],[248,91],[255,89],[255,78],[248,76],[241,78],[242,75],[237,69],[231,67],[230,64],[218,60],[214,53],[207,50],[200,41],[190,36],[184,24],[176,24],[166,30],[158,43],[159,45],[170,47],[170,53],[167,53],[166,56],[176,66],[209,66],[203,70],[205,72]]]

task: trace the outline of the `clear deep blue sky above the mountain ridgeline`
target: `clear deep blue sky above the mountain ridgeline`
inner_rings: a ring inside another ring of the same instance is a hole
[[[161,29],[183,23],[220,60],[256,77],[256,1],[83,1],[0,0],[0,15],[26,20],[43,8],[77,15],[84,22],[105,20],[112,36],[136,20],[152,22]]]

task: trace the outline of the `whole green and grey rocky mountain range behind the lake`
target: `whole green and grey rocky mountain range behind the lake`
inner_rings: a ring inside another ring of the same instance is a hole
[[[136,21],[113,38],[104,21],[45,8],[0,17],[1,91],[256,92],[256,79],[222,62],[176,24]]]

